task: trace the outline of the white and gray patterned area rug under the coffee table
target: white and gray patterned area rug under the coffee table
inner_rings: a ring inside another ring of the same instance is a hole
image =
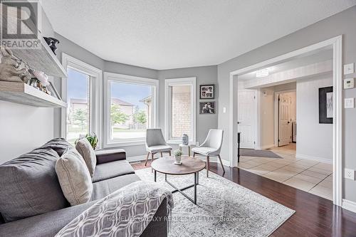
[[[136,174],[144,181],[153,181],[151,169],[139,169]],[[194,174],[167,179],[175,186],[194,183]],[[164,182],[164,174],[157,172],[157,182],[173,190]],[[193,197],[194,188],[184,190]],[[179,192],[173,194],[174,209],[170,237],[176,236],[269,236],[295,211],[267,199],[260,194],[206,171],[199,174],[197,205]]]

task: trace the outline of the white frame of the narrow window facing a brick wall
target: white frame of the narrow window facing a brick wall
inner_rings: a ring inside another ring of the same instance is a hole
[[[173,85],[190,85],[192,95],[192,137],[189,137],[189,143],[195,144],[197,139],[197,78],[172,78],[164,80],[164,136],[169,144],[180,144],[182,139],[172,139],[170,133],[172,131],[172,120],[169,112],[169,106],[172,105],[172,93],[170,93],[169,87]],[[192,138],[192,139],[191,139]]]

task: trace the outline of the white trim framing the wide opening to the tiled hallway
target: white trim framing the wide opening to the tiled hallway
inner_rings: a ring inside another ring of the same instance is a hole
[[[237,165],[237,132],[238,132],[238,112],[236,95],[239,75],[250,73],[262,68],[267,68],[276,63],[286,62],[293,58],[298,58],[314,51],[319,51],[325,47],[331,47],[333,51],[332,59],[332,80],[333,80],[333,202],[337,206],[342,205],[342,36],[330,38],[329,40],[315,43],[312,46],[301,48],[297,51],[286,53],[276,58],[271,58],[261,63],[248,66],[230,73],[230,119],[229,119],[229,153],[232,167]],[[271,80],[271,83],[274,83]],[[256,85],[258,81],[251,81],[250,85]]]

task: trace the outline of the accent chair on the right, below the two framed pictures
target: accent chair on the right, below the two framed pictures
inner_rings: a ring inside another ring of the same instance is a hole
[[[209,177],[209,158],[218,157],[221,167],[225,173],[224,165],[221,162],[220,149],[224,137],[224,130],[209,130],[208,136],[205,141],[199,146],[192,149],[193,157],[195,154],[202,154],[206,156],[206,177]]]

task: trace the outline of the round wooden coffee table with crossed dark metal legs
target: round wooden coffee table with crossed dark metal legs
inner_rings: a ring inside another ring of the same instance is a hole
[[[201,159],[193,157],[182,157],[182,164],[173,164],[174,157],[162,157],[155,159],[152,162],[151,167],[155,171],[155,181],[157,181],[157,172],[164,174],[164,181],[172,186],[175,190],[172,193],[179,191],[183,196],[197,204],[197,185],[199,184],[199,172],[205,168],[205,162]],[[169,175],[187,175],[194,174],[194,184],[186,186],[182,189],[177,188],[167,180],[167,174]],[[187,194],[184,194],[185,189],[189,189],[194,186],[194,199],[190,198]]]

